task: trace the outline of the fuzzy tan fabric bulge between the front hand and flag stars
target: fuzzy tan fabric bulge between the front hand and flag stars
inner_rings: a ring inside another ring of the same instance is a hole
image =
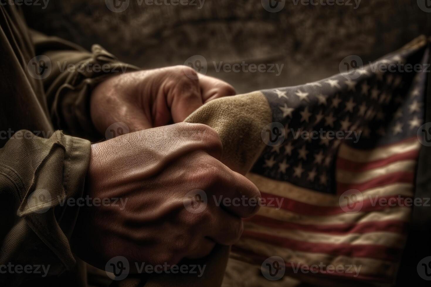
[[[184,122],[212,127],[222,141],[222,163],[245,175],[266,146],[261,131],[272,122],[272,112],[266,97],[253,92],[207,102]]]

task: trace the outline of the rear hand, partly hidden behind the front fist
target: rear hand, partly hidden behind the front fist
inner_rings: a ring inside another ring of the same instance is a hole
[[[136,71],[110,77],[91,95],[91,118],[105,134],[123,122],[130,132],[183,121],[204,103],[235,94],[228,83],[188,66]]]

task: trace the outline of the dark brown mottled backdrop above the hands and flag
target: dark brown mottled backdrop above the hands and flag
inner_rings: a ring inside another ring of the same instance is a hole
[[[50,0],[26,8],[37,30],[89,49],[100,43],[123,61],[155,68],[184,64],[193,55],[209,62],[208,74],[239,93],[290,86],[336,74],[340,61],[372,61],[431,32],[431,13],[416,0],[362,0],[353,6],[302,6],[287,0],[269,13],[260,0],[206,0],[197,6],[139,6],[111,12],[104,0]],[[215,72],[212,61],[284,63],[282,74]]]

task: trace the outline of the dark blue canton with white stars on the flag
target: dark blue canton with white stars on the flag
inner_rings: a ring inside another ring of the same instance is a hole
[[[281,145],[265,148],[252,172],[335,194],[337,150],[341,143],[370,150],[416,136],[424,123],[428,56],[427,45],[412,43],[354,73],[263,90],[273,122],[284,126],[285,139]],[[422,71],[384,70],[391,64],[421,64]],[[313,131],[313,139],[300,136]],[[343,136],[338,133],[339,136],[331,137],[331,133],[340,131]]]

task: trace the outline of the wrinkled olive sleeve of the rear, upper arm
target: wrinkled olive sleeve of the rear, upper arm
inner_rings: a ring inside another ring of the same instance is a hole
[[[107,77],[136,71],[137,67],[116,59],[99,45],[91,52],[62,40],[30,31],[39,59],[44,59],[43,80],[50,116],[56,129],[73,136],[97,138],[91,122],[91,90]]]

